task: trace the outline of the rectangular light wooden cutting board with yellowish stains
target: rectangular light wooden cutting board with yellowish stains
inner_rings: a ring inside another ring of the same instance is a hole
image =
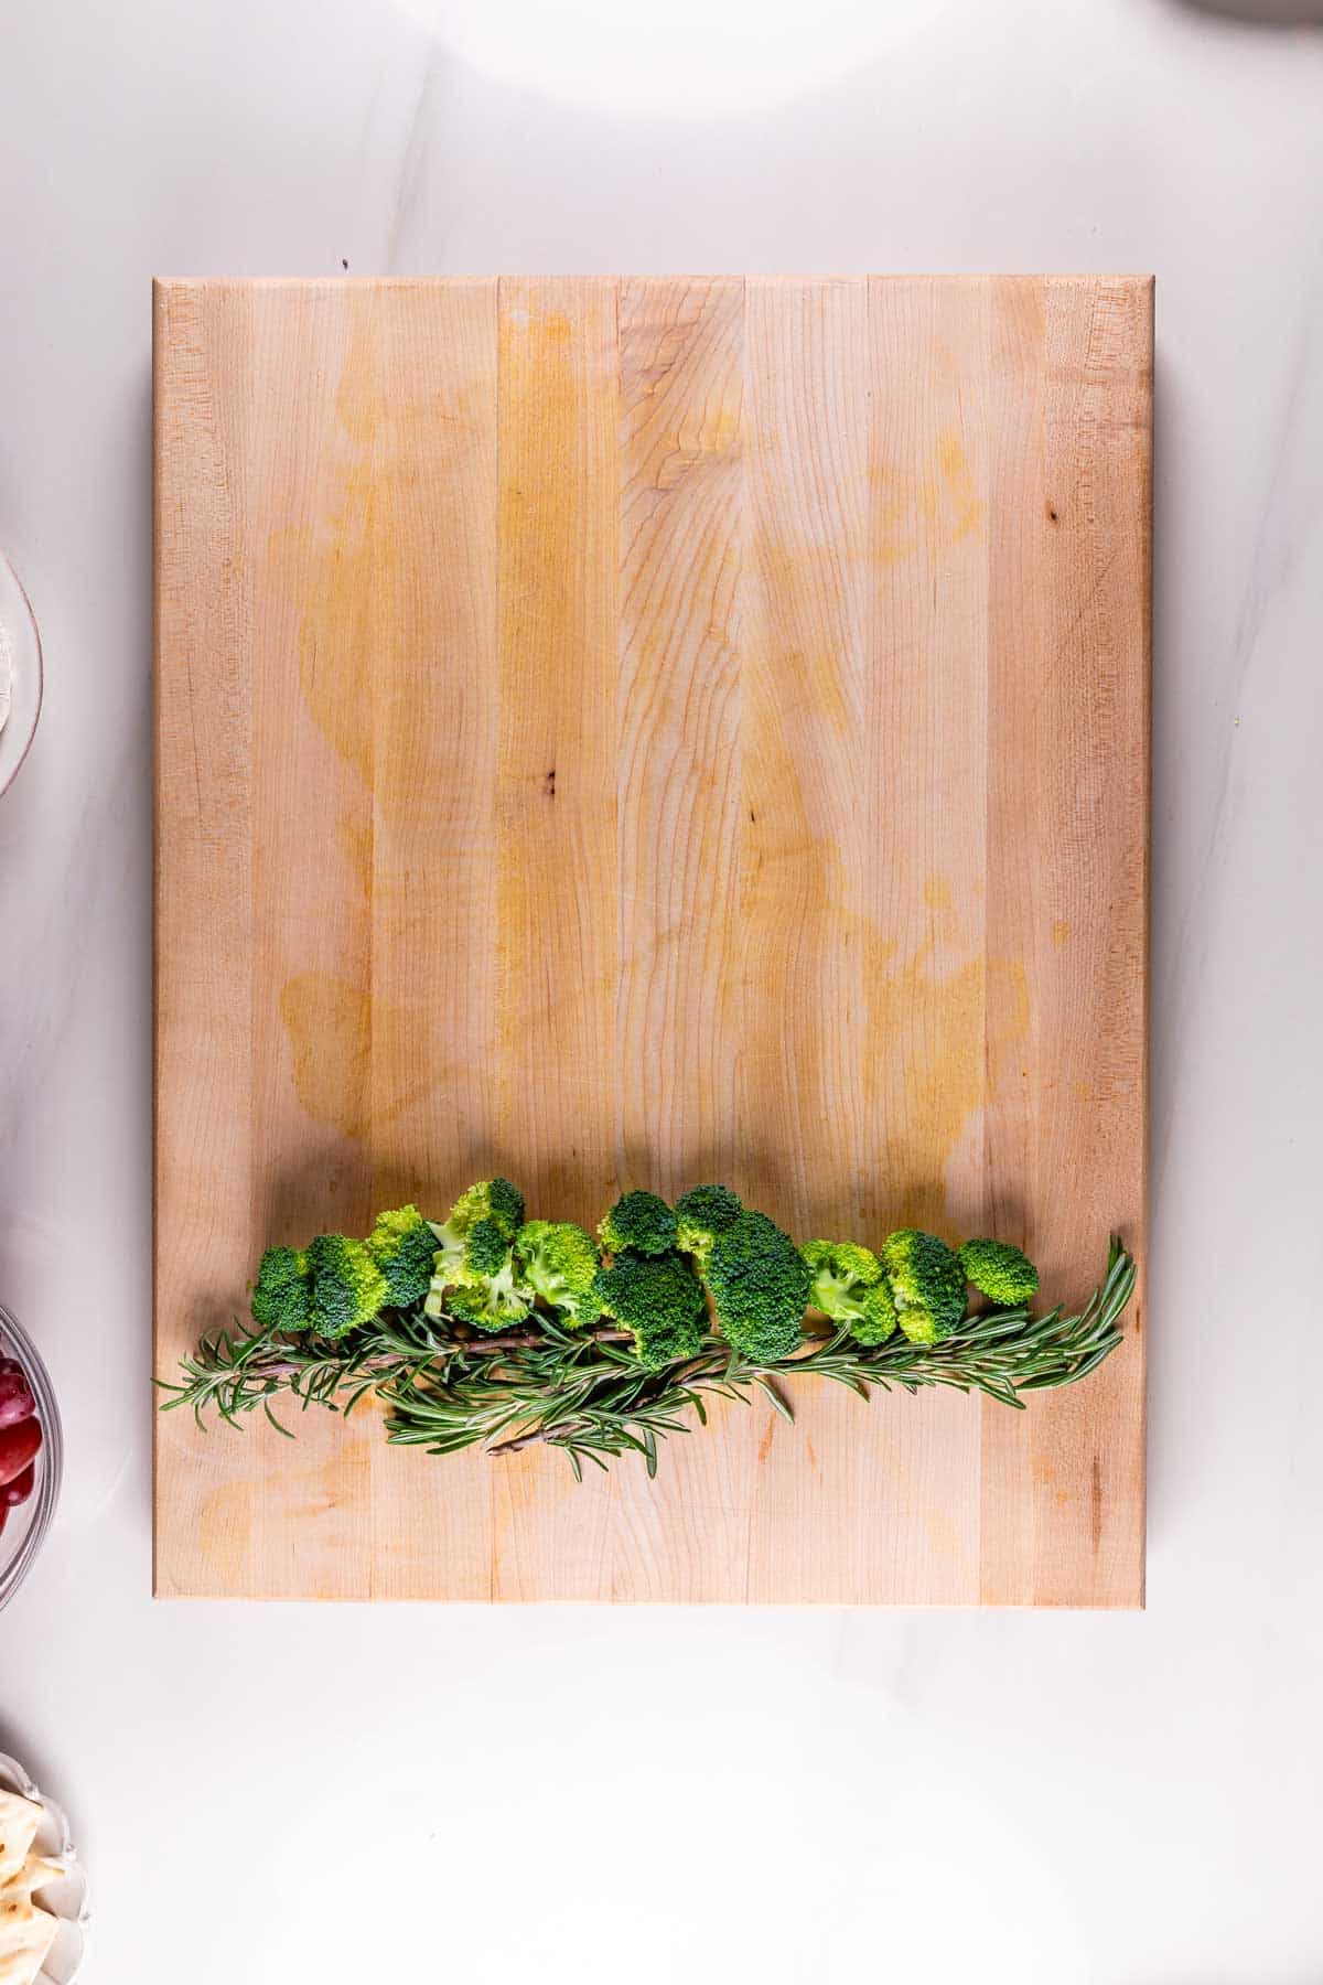
[[[262,1247],[1144,1245],[1148,278],[157,286],[157,1366]],[[1025,1413],[643,1465],[159,1419],[157,1590],[1137,1606],[1141,1308]]]

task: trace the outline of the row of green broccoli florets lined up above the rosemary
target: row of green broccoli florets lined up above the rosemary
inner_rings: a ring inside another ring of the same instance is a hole
[[[795,1247],[766,1213],[726,1185],[696,1185],[674,1205],[625,1193],[593,1239],[571,1221],[530,1221],[508,1179],[470,1185],[444,1223],[417,1207],[381,1213],[365,1241],[319,1235],[305,1249],[262,1257],[254,1322],[268,1330],[343,1338],[383,1310],[422,1306],[480,1332],[522,1324],[536,1308],[577,1330],[603,1318],[661,1368],[692,1358],[716,1326],[754,1364],[785,1358],[819,1310],[859,1344],[901,1330],[938,1344],[960,1326],[974,1286],[1016,1308],[1037,1292],[1037,1270],[1006,1241],[952,1249],[902,1227],[883,1247],[807,1241]]]

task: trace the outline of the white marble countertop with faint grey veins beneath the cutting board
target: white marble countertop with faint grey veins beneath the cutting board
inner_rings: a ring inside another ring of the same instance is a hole
[[[85,1977],[1315,1985],[1323,28],[442,12],[0,38],[0,544],[48,663],[0,802],[0,1296],[69,1441],[0,1749],[73,1814]],[[1156,270],[1144,1616],[153,1606],[149,280],[345,266]]]

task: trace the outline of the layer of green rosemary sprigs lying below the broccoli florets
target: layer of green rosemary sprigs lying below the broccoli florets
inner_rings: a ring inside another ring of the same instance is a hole
[[[387,1435],[401,1447],[452,1455],[484,1447],[508,1457],[545,1445],[565,1453],[575,1477],[583,1463],[607,1467],[627,1453],[657,1473],[659,1443],[706,1425],[706,1399],[750,1403],[762,1393],[793,1419],[787,1382],[825,1378],[867,1399],[871,1386],[918,1391],[952,1386],[1023,1407],[1023,1393],[1087,1378],[1119,1344],[1119,1320],[1135,1290],[1133,1258],[1113,1241],[1107,1274],[1077,1316],[1059,1308],[988,1308],[966,1316],[938,1344],[855,1344],[833,1330],[772,1364],[750,1364],[722,1336],[702,1338],[696,1356],[649,1370],[629,1348],[629,1332],[563,1330],[538,1312],[536,1328],[482,1338],[450,1316],[421,1308],[385,1312],[335,1342],[264,1330],[216,1330],[182,1360],[182,1380],[165,1384],[165,1407],[188,1405],[198,1423],[214,1409],[238,1425],[262,1409],[282,1431],[272,1401],[288,1395],[305,1411],[321,1405],[349,1413],[375,1391],[387,1409]]]

